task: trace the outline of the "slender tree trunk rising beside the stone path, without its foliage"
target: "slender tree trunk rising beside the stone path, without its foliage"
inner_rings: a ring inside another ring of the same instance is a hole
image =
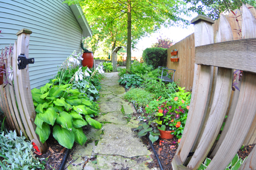
[[[131,56],[132,56],[132,48],[131,48],[131,26],[132,26],[132,17],[131,17],[131,0],[128,0],[128,11],[127,11],[127,58],[126,58],[126,73],[129,73],[131,70]]]

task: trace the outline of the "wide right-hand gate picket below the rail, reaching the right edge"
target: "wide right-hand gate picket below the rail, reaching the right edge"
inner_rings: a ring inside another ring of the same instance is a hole
[[[255,113],[256,75],[244,72],[234,118],[225,139],[209,164],[207,170],[224,170],[227,167],[241,147],[253,122]]]

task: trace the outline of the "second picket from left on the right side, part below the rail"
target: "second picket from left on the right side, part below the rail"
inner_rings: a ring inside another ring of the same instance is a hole
[[[233,72],[231,69],[218,68],[218,75],[211,99],[211,107],[208,109],[208,120],[204,123],[200,142],[187,167],[196,170],[208,155],[222,127],[225,113],[231,95],[231,83]]]

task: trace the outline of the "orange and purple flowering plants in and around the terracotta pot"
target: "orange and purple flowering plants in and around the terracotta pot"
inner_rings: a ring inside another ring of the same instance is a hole
[[[145,108],[150,116],[141,121],[142,125],[137,128],[138,136],[144,136],[149,132],[153,143],[159,137],[171,139],[174,136],[179,142],[185,126],[190,98],[190,92],[185,91],[184,87],[178,87],[178,91],[169,98],[151,101]],[[166,134],[169,137],[166,137]]]

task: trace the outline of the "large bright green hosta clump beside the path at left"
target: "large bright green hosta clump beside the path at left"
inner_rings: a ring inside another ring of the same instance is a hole
[[[54,80],[53,80],[54,81]],[[74,141],[83,145],[86,136],[82,127],[89,124],[100,129],[101,124],[92,119],[97,115],[89,98],[71,85],[46,84],[31,90],[35,106],[36,133],[44,143],[51,133],[60,145],[71,149]]]

